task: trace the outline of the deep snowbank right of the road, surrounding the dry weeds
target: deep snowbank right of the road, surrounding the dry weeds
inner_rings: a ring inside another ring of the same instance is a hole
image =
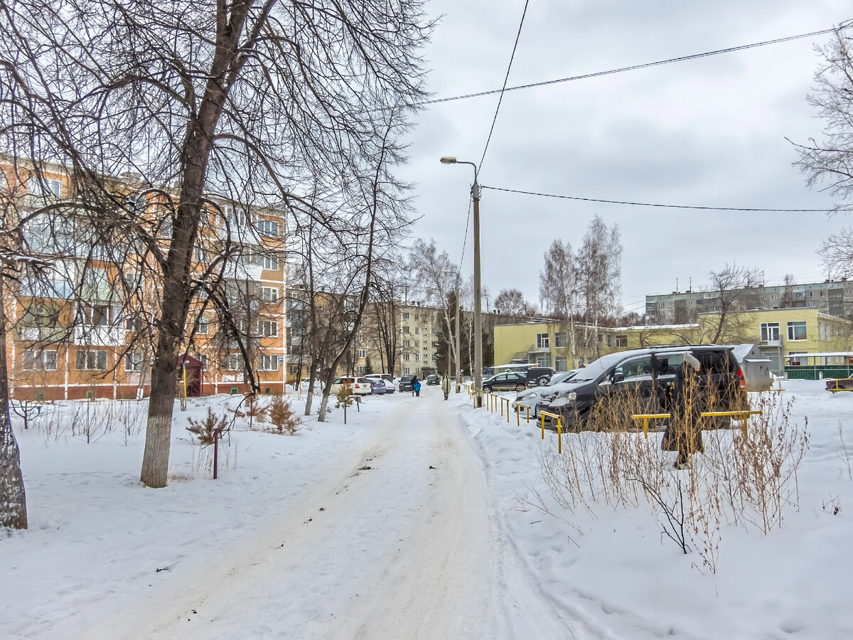
[[[684,555],[664,534],[671,527],[662,510],[643,497],[633,507],[600,499],[564,509],[540,467],[555,456],[555,433],[546,431],[543,441],[532,422],[516,426],[512,416],[508,424],[456,402],[485,462],[505,535],[543,590],[603,636],[853,637],[846,587],[853,575],[853,394],[831,396],[822,381],[785,387],[780,403],[793,399],[792,429],[808,422],[809,448],[786,487],[783,525],[764,535],[724,517],[716,573],[703,562],[701,540],[688,536]],[[706,453],[714,439],[723,445],[738,433],[705,432]],[[564,451],[577,454],[581,443],[599,437],[606,435],[564,435]],[[650,433],[655,451],[660,437]],[[657,455],[670,462],[675,454]],[[676,475],[687,481],[687,472]]]

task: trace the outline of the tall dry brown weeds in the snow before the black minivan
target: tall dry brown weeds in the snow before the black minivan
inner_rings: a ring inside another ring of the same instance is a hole
[[[756,393],[746,434],[740,428],[703,432],[704,454],[696,454],[686,470],[673,468],[674,454],[661,451],[663,422],[641,432],[632,414],[656,412],[636,393],[599,403],[583,422],[583,433],[563,435],[563,453],[555,445],[540,453],[543,480],[554,501],[574,513],[595,516],[600,505],[653,509],[663,532],[684,550],[687,539],[711,573],[717,571],[723,523],[757,528],[767,534],[780,527],[787,508],[798,508],[797,469],[808,448],[807,423],[791,421],[792,400],[778,393]],[[709,394],[706,410],[722,410]],[[736,409],[745,407],[738,406]],[[706,418],[705,428],[731,424],[728,418]],[[536,495],[536,494],[534,494]],[[549,512],[541,498],[526,501]],[[683,517],[681,514],[683,513]],[[577,528],[577,527],[576,527]]]

